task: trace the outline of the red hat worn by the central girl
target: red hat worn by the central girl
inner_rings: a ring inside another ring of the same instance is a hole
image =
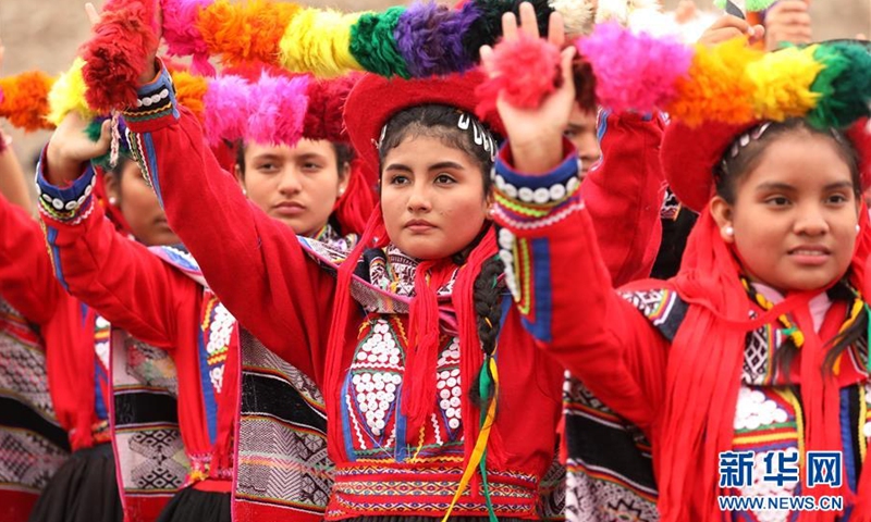
[[[402,79],[367,74],[357,82],[345,102],[345,127],[357,154],[375,172],[380,172],[378,141],[390,119],[409,107],[451,105],[475,114],[478,98],[475,89],[484,80],[475,70],[451,76]],[[502,122],[493,114],[484,122],[491,130],[504,134]]]

